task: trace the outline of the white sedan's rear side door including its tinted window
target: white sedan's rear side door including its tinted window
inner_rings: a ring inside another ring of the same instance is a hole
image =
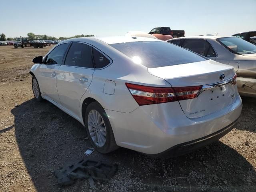
[[[94,70],[92,46],[73,42],[64,65],[58,70],[57,88],[62,106],[76,116],[79,116],[80,99],[92,82]]]

